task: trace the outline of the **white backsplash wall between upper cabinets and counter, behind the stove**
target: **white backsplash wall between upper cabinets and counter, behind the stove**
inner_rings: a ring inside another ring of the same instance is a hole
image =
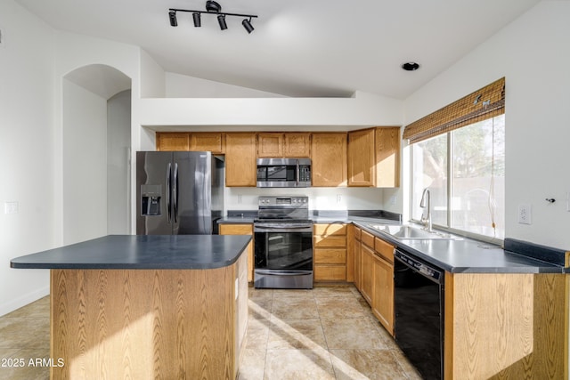
[[[305,195],[310,210],[379,210],[384,209],[383,190],[377,188],[226,188],[227,210],[256,210],[257,198],[263,195]],[[395,198],[389,201],[395,202]]]

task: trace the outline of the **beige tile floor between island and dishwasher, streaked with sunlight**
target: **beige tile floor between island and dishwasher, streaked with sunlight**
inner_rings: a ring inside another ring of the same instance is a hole
[[[420,378],[356,288],[249,288],[240,380]]]

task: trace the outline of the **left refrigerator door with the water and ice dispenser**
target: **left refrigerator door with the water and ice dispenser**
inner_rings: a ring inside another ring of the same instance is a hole
[[[172,234],[172,152],[136,152],[136,233]]]

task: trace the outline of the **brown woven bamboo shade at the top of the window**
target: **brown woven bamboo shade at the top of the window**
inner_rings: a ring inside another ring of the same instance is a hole
[[[443,109],[436,110],[427,117],[406,125],[403,138],[409,139],[411,143],[418,142],[503,113],[505,113],[504,77],[474,93],[469,93]]]

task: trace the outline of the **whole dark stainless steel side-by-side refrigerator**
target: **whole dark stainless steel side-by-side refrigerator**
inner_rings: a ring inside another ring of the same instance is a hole
[[[211,152],[136,152],[136,233],[217,233],[224,212],[224,161]]]

